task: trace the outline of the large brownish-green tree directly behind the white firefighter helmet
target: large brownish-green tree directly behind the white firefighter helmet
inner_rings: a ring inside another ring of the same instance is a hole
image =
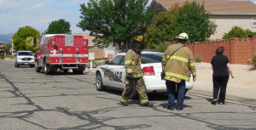
[[[217,25],[210,19],[204,4],[186,2],[182,7],[173,6],[167,12],[156,14],[154,24],[148,27],[147,41],[160,44],[174,41],[182,32],[189,35],[191,42],[203,42],[214,34]],[[155,40],[155,39],[157,40]]]

